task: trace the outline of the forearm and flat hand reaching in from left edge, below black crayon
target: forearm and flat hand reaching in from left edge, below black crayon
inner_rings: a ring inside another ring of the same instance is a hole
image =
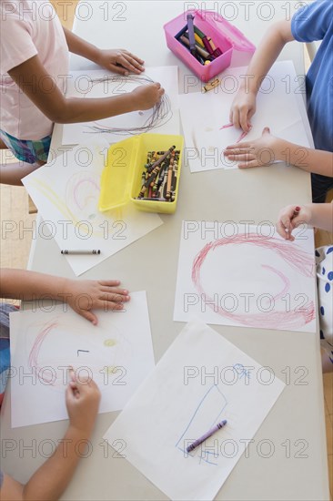
[[[22,301],[54,299],[67,302],[73,310],[97,324],[92,310],[123,310],[129,301],[128,291],[121,289],[120,281],[70,280],[35,271],[2,269],[0,297]]]

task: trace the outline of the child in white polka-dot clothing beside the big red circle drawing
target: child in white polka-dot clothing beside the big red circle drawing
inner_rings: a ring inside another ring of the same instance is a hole
[[[307,223],[333,231],[333,204],[310,203],[297,208],[288,205],[278,216],[278,233],[286,240],[295,238],[292,231]],[[333,244],[316,249],[321,359],[324,372],[333,371]]]

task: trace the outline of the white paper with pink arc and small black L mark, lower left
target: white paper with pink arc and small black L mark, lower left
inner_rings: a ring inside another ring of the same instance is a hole
[[[66,305],[11,315],[13,427],[67,418],[69,365],[98,384],[100,413],[122,409],[154,369],[146,291],[133,292],[124,312],[96,314],[96,326]]]

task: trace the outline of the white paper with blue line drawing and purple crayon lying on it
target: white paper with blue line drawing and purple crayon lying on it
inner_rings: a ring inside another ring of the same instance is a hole
[[[205,373],[210,373],[205,377]],[[211,374],[216,373],[216,378]],[[262,381],[270,384],[263,384]],[[187,323],[106,432],[170,499],[213,499],[284,383],[202,322]],[[227,424],[190,454],[187,446]]]

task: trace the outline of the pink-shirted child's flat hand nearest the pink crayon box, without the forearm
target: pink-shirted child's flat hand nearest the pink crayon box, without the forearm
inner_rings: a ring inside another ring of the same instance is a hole
[[[130,72],[139,75],[145,69],[142,59],[123,48],[114,50],[99,49],[96,63],[120,75],[128,75]]]

